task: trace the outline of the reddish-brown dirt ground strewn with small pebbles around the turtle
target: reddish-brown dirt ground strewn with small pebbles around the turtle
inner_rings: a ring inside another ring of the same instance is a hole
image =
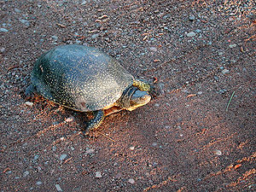
[[[1,0],[0,9],[1,191],[255,191],[253,1]],[[42,96],[26,104],[34,61],[60,44],[101,48],[157,81],[160,96],[84,138],[84,113]]]

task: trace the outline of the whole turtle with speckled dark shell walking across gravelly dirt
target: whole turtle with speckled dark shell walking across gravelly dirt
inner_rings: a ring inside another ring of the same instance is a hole
[[[147,104],[152,87],[100,49],[64,44],[49,49],[35,62],[26,96],[38,93],[63,107],[92,112],[85,134],[96,130],[111,113]]]

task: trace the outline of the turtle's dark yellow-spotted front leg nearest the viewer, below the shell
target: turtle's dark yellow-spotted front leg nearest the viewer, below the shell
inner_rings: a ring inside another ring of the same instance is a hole
[[[84,134],[90,130],[96,130],[102,124],[102,121],[105,117],[103,110],[98,110],[93,113],[94,113],[94,118],[88,122],[86,128],[83,131]]]

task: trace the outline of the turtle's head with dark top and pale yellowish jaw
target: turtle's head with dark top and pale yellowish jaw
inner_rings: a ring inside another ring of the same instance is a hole
[[[147,104],[151,96],[145,90],[138,90],[137,87],[131,86],[119,99],[119,107],[132,111],[138,107]]]

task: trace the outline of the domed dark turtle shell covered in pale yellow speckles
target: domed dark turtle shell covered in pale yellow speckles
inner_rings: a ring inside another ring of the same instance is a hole
[[[112,105],[134,79],[113,57],[79,44],[50,49],[38,58],[31,77],[38,94],[81,112]]]

